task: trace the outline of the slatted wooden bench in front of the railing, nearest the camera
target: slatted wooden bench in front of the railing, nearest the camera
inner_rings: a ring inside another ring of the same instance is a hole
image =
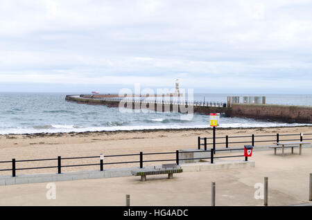
[[[173,178],[173,174],[182,173],[180,165],[163,164],[162,166],[137,168],[131,171],[133,176],[141,176],[141,181],[146,181],[147,175],[168,174],[168,178]]]

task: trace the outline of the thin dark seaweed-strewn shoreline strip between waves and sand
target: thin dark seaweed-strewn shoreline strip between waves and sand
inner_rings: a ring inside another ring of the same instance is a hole
[[[296,125],[296,126],[276,126],[276,127],[217,127],[218,130],[250,130],[250,129],[286,129],[286,128],[311,128],[311,125]],[[153,133],[158,131],[171,132],[171,131],[209,131],[212,127],[205,128],[177,128],[177,129],[132,129],[132,130],[116,130],[116,131],[69,131],[69,132],[38,132],[38,133],[24,133],[24,134],[0,134],[1,136],[60,136],[72,134],[131,134],[131,133]]]

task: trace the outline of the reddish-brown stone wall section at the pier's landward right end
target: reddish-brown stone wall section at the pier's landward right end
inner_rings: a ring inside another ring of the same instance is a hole
[[[312,123],[312,107],[277,104],[232,104],[231,117]]]

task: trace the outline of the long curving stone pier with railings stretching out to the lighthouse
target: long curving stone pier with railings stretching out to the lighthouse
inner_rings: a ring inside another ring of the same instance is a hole
[[[160,100],[157,96],[151,101],[141,95],[133,95],[132,98],[122,98],[114,94],[102,95],[67,95],[65,100],[82,104],[103,104],[107,107],[125,107],[128,109],[152,109],[155,111],[171,111],[187,113],[185,109],[193,107],[193,113],[203,113],[208,115],[211,112],[223,113],[227,117],[255,118],[269,121],[279,121],[288,123],[311,123],[311,106],[293,106],[282,104],[259,104],[254,103],[234,103],[234,102],[205,102],[205,101],[177,101]]]

